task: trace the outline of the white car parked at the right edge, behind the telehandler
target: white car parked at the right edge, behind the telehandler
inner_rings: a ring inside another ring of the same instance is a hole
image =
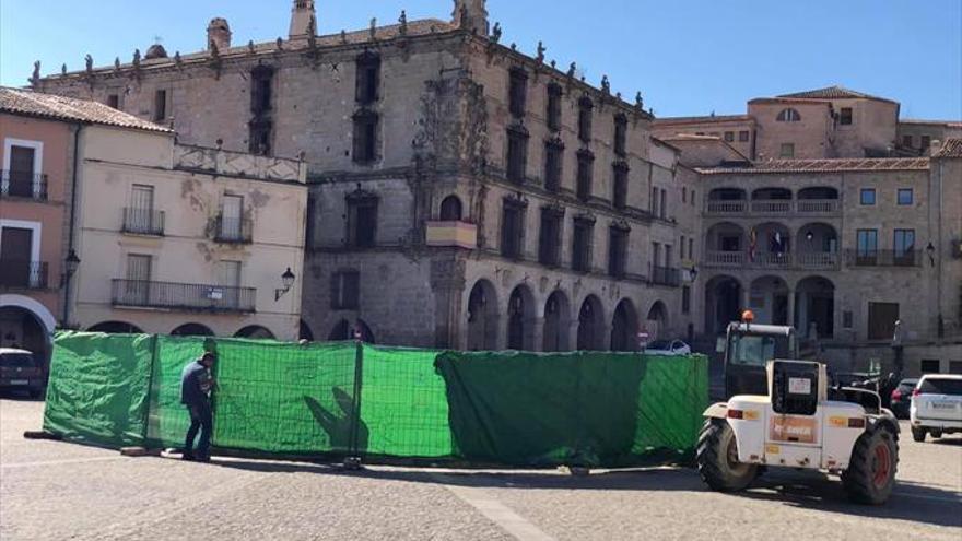
[[[926,434],[939,438],[942,434],[962,432],[962,376],[922,376],[912,391],[908,419],[916,442],[925,442]]]

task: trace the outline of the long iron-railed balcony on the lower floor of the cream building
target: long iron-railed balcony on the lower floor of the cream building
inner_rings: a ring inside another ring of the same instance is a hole
[[[257,290],[224,285],[180,284],[143,280],[114,280],[114,306],[184,311],[250,314]]]

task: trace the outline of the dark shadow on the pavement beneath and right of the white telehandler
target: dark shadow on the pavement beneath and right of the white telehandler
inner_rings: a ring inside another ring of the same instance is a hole
[[[778,472],[759,479],[732,497],[781,502],[786,506],[866,518],[889,518],[935,526],[962,527],[959,493],[899,481],[884,505],[869,506],[848,499],[842,482],[820,472]],[[952,511],[954,504],[955,511]]]

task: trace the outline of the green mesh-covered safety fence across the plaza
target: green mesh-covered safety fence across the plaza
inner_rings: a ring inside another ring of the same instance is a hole
[[[368,462],[626,467],[684,460],[707,360],[631,353],[458,353],[354,342],[63,332],[44,428],[180,447],[180,372],[214,351],[215,449]]]

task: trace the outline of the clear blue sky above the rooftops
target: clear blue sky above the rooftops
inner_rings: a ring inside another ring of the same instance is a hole
[[[319,32],[447,19],[451,0],[318,0]],[[270,7],[268,7],[270,4]],[[66,62],[97,66],[155,37],[173,54],[199,50],[213,16],[235,43],[285,35],[286,0],[0,0],[0,82],[25,84]],[[136,7],[136,8],[134,8]],[[960,0],[489,0],[503,40],[585,68],[598,84],[634,96],[658,116],[743,113],[752,97],[841,84],[894,98],[905,118],[962,119]]]

